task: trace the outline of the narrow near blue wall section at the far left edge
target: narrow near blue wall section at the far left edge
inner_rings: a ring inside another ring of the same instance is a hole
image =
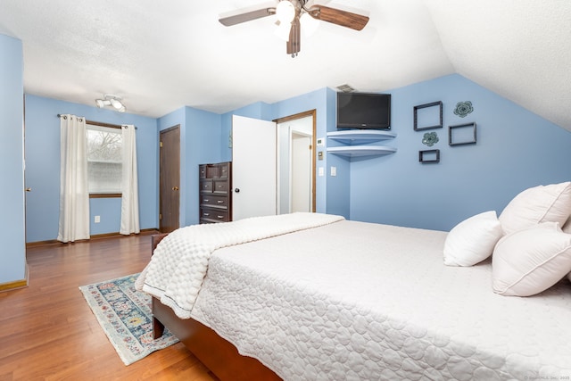
[[[26,277],[21,41],[0,35],[0,284]]]

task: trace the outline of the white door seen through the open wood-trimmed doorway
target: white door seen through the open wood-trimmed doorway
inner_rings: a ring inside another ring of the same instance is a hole
[[[311,211],[311,137],[292,133],[292,212]]]

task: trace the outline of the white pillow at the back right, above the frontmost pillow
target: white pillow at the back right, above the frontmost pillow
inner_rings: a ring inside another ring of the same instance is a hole
[[[500,214],[504,234],[530,228],[542,222],[563,226],[571,215],[571,182],[525,189]]]

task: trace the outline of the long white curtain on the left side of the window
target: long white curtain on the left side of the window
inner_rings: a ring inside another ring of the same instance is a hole
[[[60,116],[60,224],[57,240],[89,239],[86,120]]]

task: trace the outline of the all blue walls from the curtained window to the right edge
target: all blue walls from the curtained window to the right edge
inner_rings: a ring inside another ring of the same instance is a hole
[[[459,75],[446,76],[390,91],[393,131],[386,156],[348,160],[325,154],[325,176],[317,178],[317,211],[346,218],[417,228],[449,230],[480,211],[498,213],[529,186],[569,179],[571,134]],[[335,130],[335,91],[322,88],[276,104],[255,103],[222,115],[182,107],[158,120],[120,114],[39,96],[26,97],[28,242],[57,236],[59,209],[59,119],[74,113],[88,120],[137,125],[141,228],[157,228],[160,130],[180,125],[180,226],[198,223],[198,165],[232,160],[228,147],[232,115],[275,120],[317,110],[317,137]],[[444,128],[414,131],[415,105],[443,101]],[[475,111],[462,119],[453,114],[460,101]],[[475,121],[477,144],[449,146],[448,126]],[[441,162],[421,164],[418,151],[425,132],[436,132]],[[327,139],[325,139],[327,142]],[[328,143],[328,142],[327,142]],[[325,147],[318,147],[325,150]],[[330,176],[335,166],[337,176]],[[119,199],[92,199],[92,234],[119,230]],[[102,222],[93,223],[93,215]]]

